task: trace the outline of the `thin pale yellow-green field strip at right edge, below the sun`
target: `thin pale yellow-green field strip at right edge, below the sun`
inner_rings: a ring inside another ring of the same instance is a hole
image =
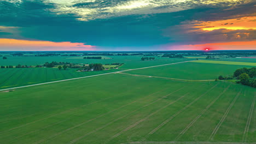
[[[216,64],[231,64],[231,65],[249,65],[255,66],[256,63],[249,63],[249,62],[228,62],[228,61],[207,61],[207,60],[199,60],[199,61],[191,61],[193,63],[216,63]]]

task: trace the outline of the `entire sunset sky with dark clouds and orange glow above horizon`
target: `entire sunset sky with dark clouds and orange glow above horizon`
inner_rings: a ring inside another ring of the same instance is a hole
[[[255,0],[0,0],[0,51],[256,50]]]

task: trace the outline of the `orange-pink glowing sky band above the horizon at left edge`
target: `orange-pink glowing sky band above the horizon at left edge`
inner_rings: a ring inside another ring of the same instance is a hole
[[[71,43],[65,42],[53,42],[53,41],[38,41],[38,40],[19,40],[19,39],[4,39],[0,38],[0,50],[38,50],[38,51],[68,51],[68,50],[94,50],[95,46],[85,45],[84,43]]]

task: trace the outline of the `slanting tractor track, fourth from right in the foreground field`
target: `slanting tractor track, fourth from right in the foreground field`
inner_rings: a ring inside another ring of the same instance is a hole
[[[152,130],[149,135],[152,135],[155,133],[155,131],[159,130],[162,126],[164,126],[166,123],[168,123],[169,121],[171,121],[171,119],[173,119],[174,117],[176,117],[177,115],[179,115],[179,113],[183,112],[185,109],[187,109],[190,105],[194,104],[197,100],[199,100],[203,95],[207,94],[208,92],[210,92],[214,87],[216,87],[218,85],[218,83],[216,85],[214,85],[212,88],[208,89],[208,91],[206,91],[205,93],[203,93],[202,95],[200,95],[198,98],[196,98],[195,100],[193,100],[191,103],[189,103],[187,106],[183,107],[183,109],[179,110],[177,113],[175,113],[174,115],[172,115],[170,118],[166,119],[166,121],[162,122],[158,127],[156,127],[154,130]]]

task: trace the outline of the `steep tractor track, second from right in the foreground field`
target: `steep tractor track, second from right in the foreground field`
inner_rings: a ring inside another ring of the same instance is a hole
[[[242,91],[242,89],[241,89],[241,91]],[[231,107],[234,105],[234,103],[236,102],[236,99],[239,97],[241,91],[236,94],[236,97],[234,98],[234,100],[232,101],[232,103],[229,105],[228,109],[226,109],[226,111],[225,111],[224,115],[222,116],[222,118],[220,119],[219,123],[216,125],[216,127],[215,127],[214,130],[212,131],[212,134],[211,134],[209,140],[212,140],[213,137],[216,135],[216,133],[217,133],[217,131],[219,130],[220,126],[221,126],[222,123],[225,121],[226,116],[228,116]]]

